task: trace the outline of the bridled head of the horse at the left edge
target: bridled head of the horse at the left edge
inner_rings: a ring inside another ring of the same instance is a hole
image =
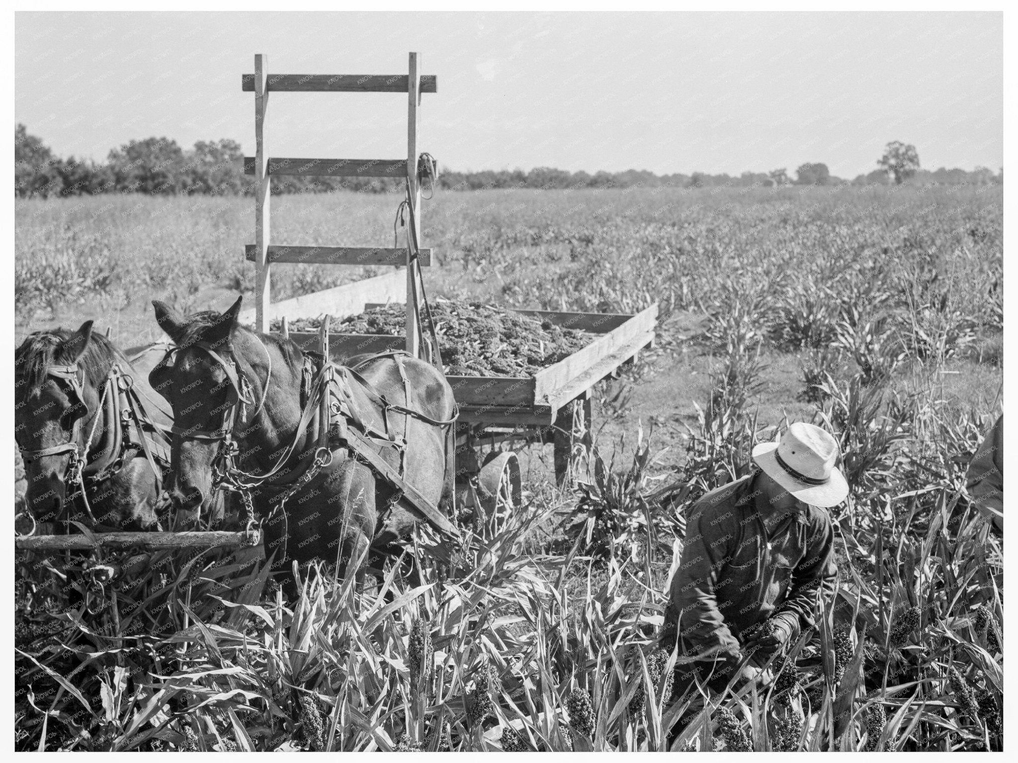
[[[27,505],[57,519],[67,483],[79,479],[107,374],[118,354],[91,320],[76,332],[36,332],[14,353],[14,434],[24,460]],[[76,474],[75,470],[78,470]]]

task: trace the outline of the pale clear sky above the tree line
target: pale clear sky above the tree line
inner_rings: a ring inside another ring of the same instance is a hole
[[[14,117],[63,157],[164,135],[253,154],[253,54],[273,74],[401,74],[411,50],[438,75],[418,150],[448,169],[852,178],[889,140],[926,169],[1003,164],[999,12],[20,12]],[[406,96],[273,94],[267,140],[405,157]]]

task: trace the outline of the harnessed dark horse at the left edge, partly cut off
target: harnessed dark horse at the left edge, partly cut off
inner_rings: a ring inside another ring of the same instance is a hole
[[[14,434],[32,517],[97,531],[158,529],[168,406],[149,386],[158,353],[132,364],[87,320],[29,336],[14,353]],[[72,528],[70,528],[73,531]]]

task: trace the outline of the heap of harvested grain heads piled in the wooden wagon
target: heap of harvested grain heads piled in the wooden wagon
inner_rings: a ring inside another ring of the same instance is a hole
[[[457,376],[529,376],[582,347],[596,335],[479,302],[432,305],[445,372]],[[337,334],[402,336],[405,307],[377,307],[332,324]],[[292,332],[317,332],[322,318],[290,321]],[[273,331],[279,331],[274,321]]]

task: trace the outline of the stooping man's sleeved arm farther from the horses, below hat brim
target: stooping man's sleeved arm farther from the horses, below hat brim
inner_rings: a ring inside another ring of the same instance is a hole
[[[803,630],[816,625],[816,592],[823,589],[824,599],[835,592],[838,568],[834,563],[834,528],[824,510],[816,512],[809,523],[806,555],[792,571],[792,586],[788,597],[773,615],[789,626],[789,645]]]

